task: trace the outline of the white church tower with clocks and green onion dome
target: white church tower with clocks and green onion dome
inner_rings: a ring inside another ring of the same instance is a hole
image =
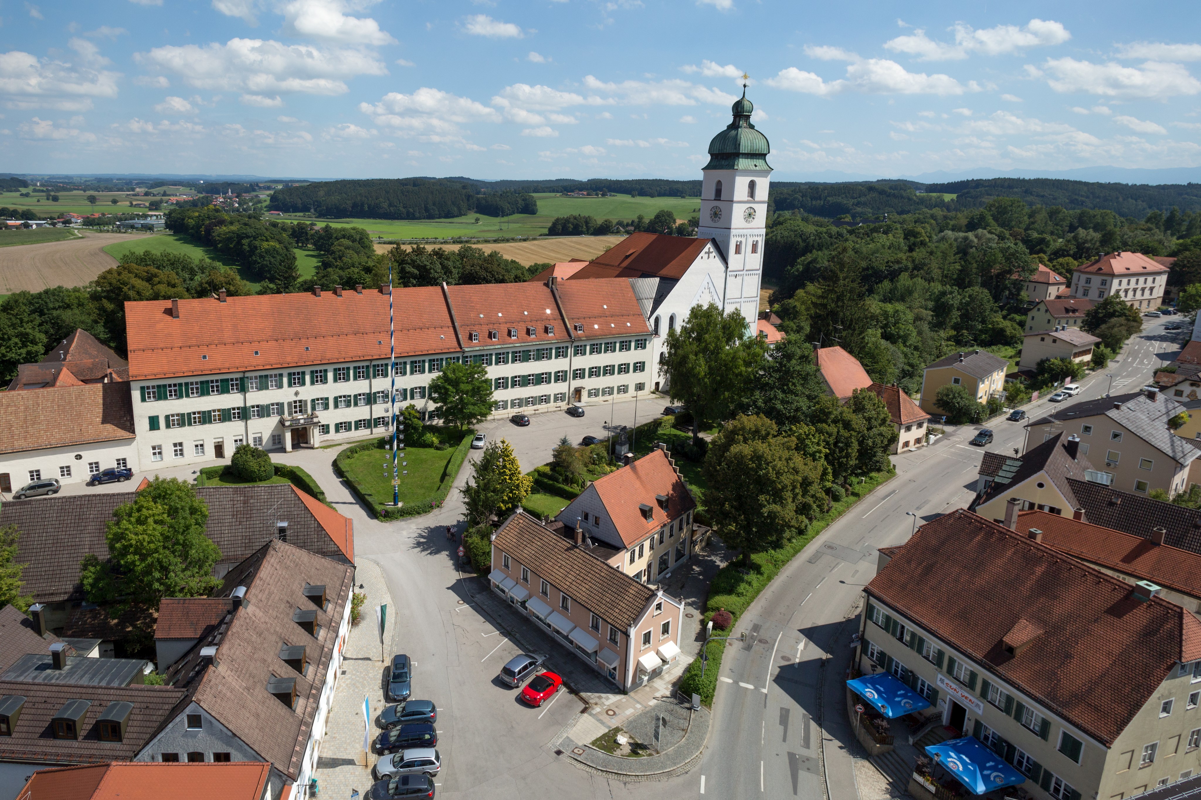
[[[725,257],[725,285],[718,287],[724,309],[740,309],[754,330],[759,317],[771,148],[767,137],[751,124],[754,106],[746,97],[746,84],[731,110],[734,121],[709,143],[697,236],[712,239]]]

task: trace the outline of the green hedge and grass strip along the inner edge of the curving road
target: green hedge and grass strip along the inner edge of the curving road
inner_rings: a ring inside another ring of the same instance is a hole
[[[830,506],[830,510],[814,519],[803,535],[797,536],[781,548],[755,553],[751,557],[752,566],[748,573],[743,573],[742,559],[730,561],[713,577],[709,584],[709,600],[705,603],[705,615],[701,624],[707,624],[713,614],[724,608],[734,618],[730,630],[739,624],[739,618],[751,607],[759,594],[771,583],[784,565],[787,565],[805,546],[825,530],[830,523],[841,517],[853,505],[859,503],[868,492],[891,480],[896,471],[876,473],[861,485],[855,486],[847,493],[847,497]],[[717,690],[717,674],[722,670],[722,656],[725,654],[725,642],[710,642],[705,645],[709,652],[709,664],[705,667],[705,678],[700,678],[700,657],[698,656],[688,668],[685,669],[683,679],[680,681],[680,691],[685,696],[700,694],[700,699],[706,705],[712,704],[713,692]]]

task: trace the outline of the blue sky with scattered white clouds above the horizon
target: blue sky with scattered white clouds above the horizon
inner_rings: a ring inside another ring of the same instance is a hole
[[[777,180],[1201,167],[1201,6],[0,0],[0,169]]]

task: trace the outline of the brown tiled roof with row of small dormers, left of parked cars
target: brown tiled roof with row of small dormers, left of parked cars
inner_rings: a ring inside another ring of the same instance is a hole
[[[304,595],[305,584],[325,587],[325,609]],[[231,615],[228,625],[222,624],[172,664],[165,682],[186,690],[190,700],[295,780],[322,686],[337,651],[339,626],[354,588],[354,567],[273,540],[231,570],[219,594],[228,596],[239,585],[246,587],[246,602]],[[292,621],[297,609],[316,610],[316,624],[322,627],[319,639]],[[199,652],[210,644],[217,651],[215,663],[207,664]],[[307,674],[301,675],[280,658],[283,645],[305,648]],[[267,691],[273,676],[295,679],[294,709]]]

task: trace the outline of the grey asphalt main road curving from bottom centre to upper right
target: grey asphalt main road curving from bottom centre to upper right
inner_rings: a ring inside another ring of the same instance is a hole
[[[1148,319],[1122,357],[1086,378],[1068,402],[1103,397],[1111,374],[1115,395],[1141,387],[1188,341],[1188,331],[1163,330],[1178,319]],[[1054,405],[1044,398],[1027,411],[1036,419]],[[987,425],[996,435],[987,450],[1022,449],[1023,423],[1003,419]],[[897,476],[823,531],[742,615],[734,633],[746,631],[748,639],[728,643],[705,758],[680,778],[693,793],[733,800],[823,796],[829,781],[829,796],[854,800],[849,735],[832,700],[843,691],[847,637],[856,630],[862,587],[876,575],[877,548],[903,543],[915,524],[972,500],[985,449],[969,443],[980,427],[946,428],[930,447],[895,457]],[[824,669],[827,655],[832,666]]]

